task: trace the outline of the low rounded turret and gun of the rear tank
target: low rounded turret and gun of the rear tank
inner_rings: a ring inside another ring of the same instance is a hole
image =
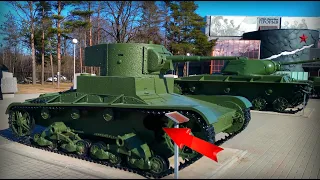
[[[281,71],[283,65],[303,64],[320,62],[320,59],[294,61],[294,62],[276,62],[272,60],[260,59],[240,59],[238,61],[227,61],[221,69],[222,74],[229,75],[271,75]]]

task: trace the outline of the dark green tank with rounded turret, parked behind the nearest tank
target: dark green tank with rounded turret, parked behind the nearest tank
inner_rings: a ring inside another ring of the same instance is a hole
[[[226,61],[221,73],[176,78],[176,93],[199,97],[202,95],[242,96],[250,100],[254,110],[271,110],[281,113],[296,113],[302,110],[298,106],[308,101],[313,85],[311,81],[298,81],[288,75],[274,73],[280,71],[283,65],[320,61],[320,59],[313,59],[280,63],[272,60],[223,56],[199,57],[197,61],[208,59]]]

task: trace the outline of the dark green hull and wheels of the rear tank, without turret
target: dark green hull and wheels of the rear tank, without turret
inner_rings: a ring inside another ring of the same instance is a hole
[[[175,79],[176,92],[192,95],[243,96],[254,110],[288,112],[306,102],[312,90],[309,82],[286,76],[196,75]],[[282,103],[282,106],[281,106]],[[291,111],[292,112],[292,111]]]

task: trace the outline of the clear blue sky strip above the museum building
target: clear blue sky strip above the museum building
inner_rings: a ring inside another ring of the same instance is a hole
[[[320,1],[197,1],[197,13],[225,16],[319,17]]]

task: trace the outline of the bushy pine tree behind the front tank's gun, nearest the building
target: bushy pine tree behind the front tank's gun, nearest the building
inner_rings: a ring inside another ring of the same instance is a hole
[[[198,6],[192,1],[170,2],[171,21],[167,28],[169,49],[174,54],[207,55],[214,46],[213,41],[202,32],[206,23],[195,11]]]

